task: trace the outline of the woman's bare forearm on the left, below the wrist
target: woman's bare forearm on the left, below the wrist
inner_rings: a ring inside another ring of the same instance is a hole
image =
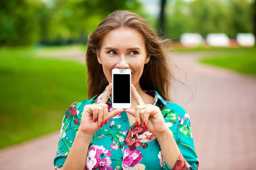
[[[93,136],[77,131],[76,137],[67,159],[61,170],[84,170],[87,159],[87,151]]]

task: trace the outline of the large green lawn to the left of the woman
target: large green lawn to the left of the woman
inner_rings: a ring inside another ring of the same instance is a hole
[[[34,55],[0,50],[0,148],[60,130],[66,109],[87,99],[84,64]]]

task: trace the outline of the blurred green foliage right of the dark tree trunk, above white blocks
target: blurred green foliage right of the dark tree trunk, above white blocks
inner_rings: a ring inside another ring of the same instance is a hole
[[[248,0],[169,0],[166,34],[177,40],[183,33],[253,33],[254,3]]]

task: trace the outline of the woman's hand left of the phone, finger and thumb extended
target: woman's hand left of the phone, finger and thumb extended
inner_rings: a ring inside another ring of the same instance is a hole
[[[123,109],[115,109],[108,113],[108,98],[111,94],[112,83],[108,85],[107,90],[104,92],[101,101],[98,104],[85,105],[84,111],[81,117],[81,124],[79,130],[82,133],[93,135],[103,123],[107,125],[107,122],[112,117],[123,112]]]

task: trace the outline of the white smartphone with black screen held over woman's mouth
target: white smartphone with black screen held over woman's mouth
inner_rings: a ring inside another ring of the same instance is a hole
[[[131,108],[131,70],[112,70],[112,107]]]

